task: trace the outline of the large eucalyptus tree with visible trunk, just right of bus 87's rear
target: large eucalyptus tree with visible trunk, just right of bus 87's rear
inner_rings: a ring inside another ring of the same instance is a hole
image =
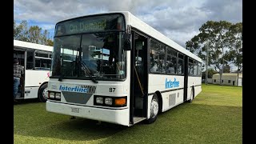
[[[187,50],[198,54],[198,57],[204,61],[206,61],[206,49],[208,49],[208,66],[213,66],[214,70],[220,74],[221,85],[222,72],[226,64],[225,57],[230,48],[228,38],[230,26],[232,23],[226,21],[208,21],[200,27],[198,35],[186,42]]]

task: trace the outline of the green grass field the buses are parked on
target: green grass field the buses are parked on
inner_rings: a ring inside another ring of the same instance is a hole
[[[242,87],[202,85],[192,103],[130,127],[70,119],[45,105],[14,105],[14,143],[242,143]]]

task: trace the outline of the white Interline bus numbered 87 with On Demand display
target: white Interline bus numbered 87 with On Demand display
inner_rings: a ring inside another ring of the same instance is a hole
[[[130,12],[86,15],[55,26],[46,110],[133,126],[192,102],[202,59]]]

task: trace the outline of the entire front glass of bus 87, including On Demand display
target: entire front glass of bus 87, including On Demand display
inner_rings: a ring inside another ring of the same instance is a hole
[[[73,18],[55,26],[52,78],[123,79],[122,14]]]

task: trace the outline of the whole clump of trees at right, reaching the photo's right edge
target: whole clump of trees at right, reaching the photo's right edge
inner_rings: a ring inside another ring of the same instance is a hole
[[[230,64],[238,66],[238,73],[242,70],[242,22],[208,21],[186,42],[186,49],[204,62],[208,50],[208,66],[220,74],[222,85],[222,73],[230,69]]]

